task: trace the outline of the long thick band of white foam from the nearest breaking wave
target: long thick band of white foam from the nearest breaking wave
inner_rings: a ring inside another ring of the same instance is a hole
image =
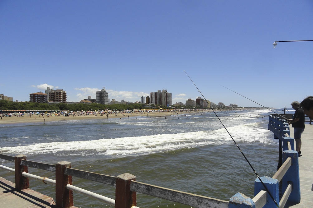
[[[258,123],[239,125],[228,128],[228,131],[237,142],[269,143],[269,131],[259,128]],[[4,154],[25,155],[59,153],[65,154],[103,154],[111,156],[125,156],[130,154],[150,154],[182,148],[192,148],[203,145],[218,145],[232,143],[225,129],[214,131],[195,131],[175,134],[157,134],[149,136],[121,137],[114,139],[99,139],[92,141],[70,141],[38,143],[27,146],[2,147]]]

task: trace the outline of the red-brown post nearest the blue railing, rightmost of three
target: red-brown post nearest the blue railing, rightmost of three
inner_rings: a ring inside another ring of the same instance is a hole
[[[131,208],[136,206],[136,192],[131,191],[131,181],[136,181],[136,176],[124,173],[116,177],[115,208]]]

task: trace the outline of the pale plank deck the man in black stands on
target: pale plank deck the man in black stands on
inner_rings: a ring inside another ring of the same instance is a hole
[[[294,137],[294,129],[290,128],[290,137]],[[301,136],[301,153],[299,157],[300,194],[301,201],[296,205],[285,207],[312,208],[313,207],[313,125],[305,124],[305,130]]]

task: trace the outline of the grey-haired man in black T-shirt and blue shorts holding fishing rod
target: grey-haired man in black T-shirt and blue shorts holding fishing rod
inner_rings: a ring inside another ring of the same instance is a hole
[[[293,119],[288,119],[288,124],[292,124],[294,128],[294,137],[295,137],[295,145],[296,150],[299,155],[301,155],[301,134],[304,131],[304,112],[302,108],[300,108],[300,103],[298,101],[294,101],[291,103],[293,109],[295,109],[295,114]]]

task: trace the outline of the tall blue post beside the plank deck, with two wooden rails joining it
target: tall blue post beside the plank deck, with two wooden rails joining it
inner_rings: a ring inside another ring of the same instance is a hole
[[[288,157],[291,157],[291,166],[282,179],[282,192],[285,192],[288,182],[292,183],[292,191],[288,198],[288,202],[300,203],[300,175],[299,175],[299,158],[298,152],[294,150],[283,151],[283,161],[285,162]]]

